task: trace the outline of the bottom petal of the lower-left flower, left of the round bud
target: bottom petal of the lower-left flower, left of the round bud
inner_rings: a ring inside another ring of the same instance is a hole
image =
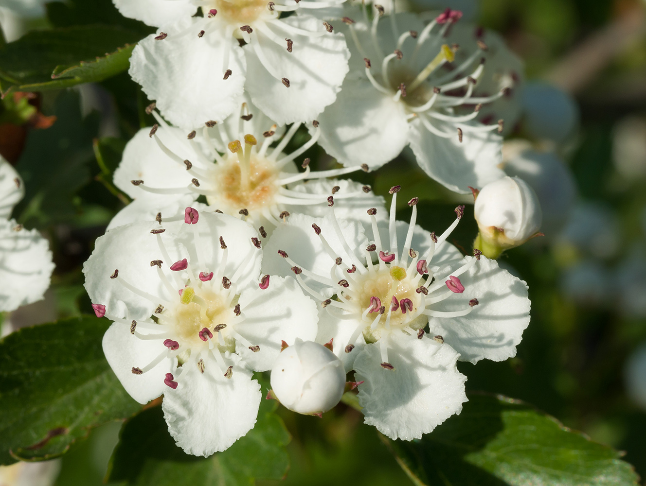
[[[203,357],[202,357],[203,358]],[[178,387],[167,387],[161,408],[171,436],[187,454],[211,456],[253,429],[262,394],[251,371],[231,356],[233,374],[224,377],[216,361],[204,359],[204,372],[185,363]]]

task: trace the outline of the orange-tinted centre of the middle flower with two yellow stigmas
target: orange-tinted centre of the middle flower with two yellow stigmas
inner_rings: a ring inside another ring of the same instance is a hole
[[[231,155],[225,163],[214,166],[213,194],[207,202],[222,207],[227,214],[236,214],[243,208],[262,209],[275,203],[278,192],[276,163],[250,154],[247,160]]]

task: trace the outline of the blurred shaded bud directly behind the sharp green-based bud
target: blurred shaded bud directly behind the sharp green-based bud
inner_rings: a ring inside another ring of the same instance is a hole
[[[521,150],[519,154],[505,157],[506,152],[503,148],[506,174],[520,177],[534,189],[543,212],[541,232],[554,238],[574,207],[576,182],[570,168],[552,152]]]

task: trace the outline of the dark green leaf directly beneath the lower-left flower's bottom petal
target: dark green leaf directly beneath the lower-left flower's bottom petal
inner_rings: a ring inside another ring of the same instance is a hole
[[[189,456],[175,445],[161,407],[144,410],[121,430],[108,479],[140,486],[242,486],[253,485],[255,479],[280,480],[289,468],[285,445],[290,437],[275,407],[275,401],[263,400],[255,427],[209,458]]]

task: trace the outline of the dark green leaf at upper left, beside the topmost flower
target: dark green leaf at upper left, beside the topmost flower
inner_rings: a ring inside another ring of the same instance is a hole
[[[43,91],[127,70],[141,34],[116,25],[33,31],[0,48],[0,91]]]

